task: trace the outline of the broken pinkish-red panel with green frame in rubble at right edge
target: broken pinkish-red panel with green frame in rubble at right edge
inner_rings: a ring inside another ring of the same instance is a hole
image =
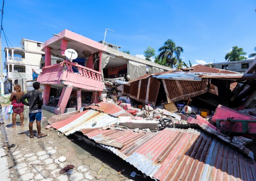
[[[248,114],[238,112],[223,105],[218,105],[212,117],[212,121],[216,122],[216,119],[226,120],[228,118],[233,118],[234,120],[256,120],[254,117],[249,116]],[[221,123],[224,123],[224,121],[221,121],[220,124]],[[249,133],[256,134],[256,123],[248,123],[248,127]],[[236,122],[236,126],[232,132],[243,132],[242,122]]]

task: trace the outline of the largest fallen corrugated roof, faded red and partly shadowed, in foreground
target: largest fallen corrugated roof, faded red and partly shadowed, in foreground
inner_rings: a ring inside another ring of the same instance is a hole
[[[151,178],[171,180],[256,180],[255,161],[195,129],[165,128],[148,134],[133,130],[83,129],[94,141],[124,143],[102,147]]]

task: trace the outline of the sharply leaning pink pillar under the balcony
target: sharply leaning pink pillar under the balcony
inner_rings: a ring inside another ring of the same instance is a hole
[[[66,106],[68,104],[68,99],[70,97],[72,90],[73,90],[72,85],[63,87],[61,95],[60,95],[60,100],[58,103],[58,112],[60,114],[63,114],[65,112]]]

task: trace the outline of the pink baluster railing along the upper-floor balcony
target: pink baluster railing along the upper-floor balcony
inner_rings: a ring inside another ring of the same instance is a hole
[[[65,68],[66,65],[66,68]],[[52,72],[59,72],[61,70],[66,70],[70,73],[74,73],[73,72],[73,68],[76,68],[78,70],[78,75],[90,78],[90,79],[94,79],[94,80],[98,80],[102,82],[102,77],[101,77],[101,73],[93,70],[93,69],[89,69],[87,67],[84,67],[82,65],[78,65],[76,63],[73,62],[68,62],[68,61],[63,61],[54,65],[50,65],[47,67],[43,67],[42,69],[42,74],[47,74],[47,73],[52,73]],[[75,73],[76,74],[76,73]]]

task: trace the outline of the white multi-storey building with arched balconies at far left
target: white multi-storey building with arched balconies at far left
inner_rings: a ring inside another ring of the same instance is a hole
[[[20,84],[26,90],[26,81],[32,80],[32,69],[40,69],[44,63],[44,43],[22,38],[21,47],[5,47],[5,69],[7,76],[4,80],[4,93],[13,91],[14,84]]]

